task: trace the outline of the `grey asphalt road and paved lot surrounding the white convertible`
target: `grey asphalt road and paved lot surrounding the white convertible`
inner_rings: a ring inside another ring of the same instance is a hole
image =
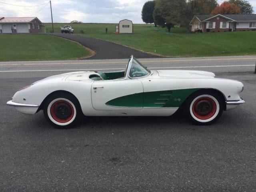
[[[42,77],[119,70],[126,60],[1,62],[0,191],[256,191],[256,57],[141,61],[154,69],[209,70],[240,80],[246,103],[210,126],[177,115],[90,117],[58,130],[42,111],[28,116],[6,101]]]

